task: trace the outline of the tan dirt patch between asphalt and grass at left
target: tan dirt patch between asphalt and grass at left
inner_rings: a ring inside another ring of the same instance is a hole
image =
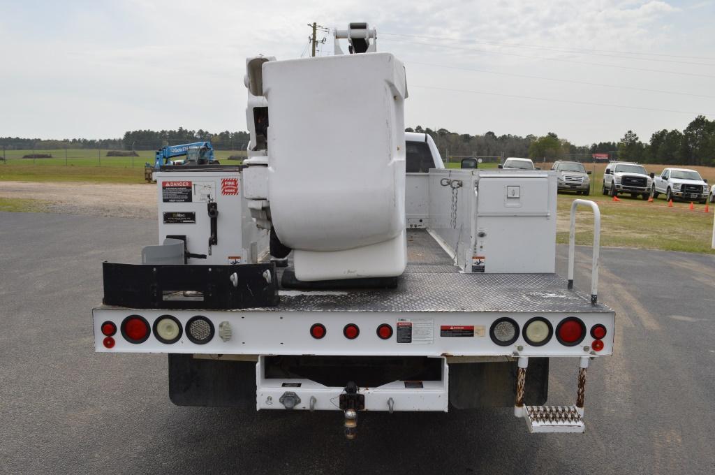
[[[49,212],[157,219],[156,185],[0,182],[0,197],[41,200]]]

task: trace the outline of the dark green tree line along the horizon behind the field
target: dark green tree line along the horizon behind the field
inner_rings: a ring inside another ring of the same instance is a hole
[[[529,157],[533,160],[591,161],[595,153],[608,154],[611,160],[663,163],[668,165],[715,166],[715,120],[696,117],[680,130],[663,129],[651,134],[649,142],[628,130],[616,142],[598,142],[591,145],[574,145],[554,132],[542,137],[528,134],[521,137],[512,134],[497,135],[460,134],[447,129],[433,130],[418,125],[405,132],[430,134],[440,153],[444,155],[475,155],[477,157]],[[18,149],[104,148],[116,150],[156,150],[164,145],[210,140],[217,150],[245,150],[249,142],[248,132],[219,133],[204,129],[191,130],[179,127],[176,130],[131,130],[119,139],[22,139],[0,137],[0,146]]]

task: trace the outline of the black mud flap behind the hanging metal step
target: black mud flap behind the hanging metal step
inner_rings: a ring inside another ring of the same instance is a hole
[[[450,405],[456,409],[514,406],[516,368],[516,361],[450,364]],[[546,403],[548,358],[529,358],[525,393],[528,406]]]

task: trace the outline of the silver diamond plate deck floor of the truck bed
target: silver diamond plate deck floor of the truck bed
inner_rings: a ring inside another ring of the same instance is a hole
[[[610,312],[556,274],[464,274],[426,230],[408,230],[408,268],[395,289],[280,290],[273,312]]]

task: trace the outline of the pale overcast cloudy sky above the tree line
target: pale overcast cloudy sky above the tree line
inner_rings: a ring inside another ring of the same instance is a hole
[[[0,136],[245,130],[245,57],[305,55],[312,21],[378,29],[413,127],[585,145],[715,118],[715,1],[0,0]]]

